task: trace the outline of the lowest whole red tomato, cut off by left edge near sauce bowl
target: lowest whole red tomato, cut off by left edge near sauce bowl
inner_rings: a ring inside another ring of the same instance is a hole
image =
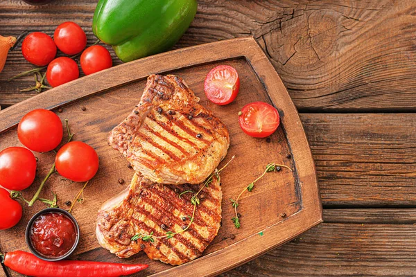
[[[10,193],[0,188],[0,230],[12,228],[21,219],[23,211],[19,202],[10,198]]]

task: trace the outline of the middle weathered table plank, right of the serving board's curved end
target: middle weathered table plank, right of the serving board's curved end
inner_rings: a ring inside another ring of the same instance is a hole
[[[325,206],[416,205],[416,114],[301,114]]]

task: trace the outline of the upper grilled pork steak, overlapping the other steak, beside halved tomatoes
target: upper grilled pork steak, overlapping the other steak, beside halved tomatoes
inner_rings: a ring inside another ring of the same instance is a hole
[[[138,175],[159,184],[200,184],[227,154],[223,123],[175,75],[150,75],[139,105],[109,143]]]

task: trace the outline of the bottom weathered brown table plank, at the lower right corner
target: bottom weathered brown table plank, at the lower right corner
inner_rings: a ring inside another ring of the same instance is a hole
[[[415,240],[413,224],[323,223],[221,276],[415,276]]]

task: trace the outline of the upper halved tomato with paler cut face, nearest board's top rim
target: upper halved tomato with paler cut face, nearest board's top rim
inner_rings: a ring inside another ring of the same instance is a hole
[[[232,66],[219,65],[209,71],[205,78],[205,95],[218,105],[231,103],[239,93],[240,78]]]

